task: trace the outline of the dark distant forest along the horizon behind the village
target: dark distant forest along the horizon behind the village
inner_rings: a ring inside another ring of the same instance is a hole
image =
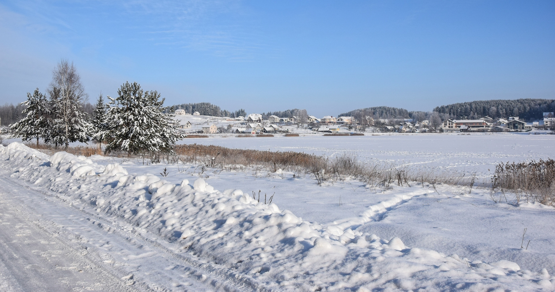
[[[184,109],[189,114],[198,111],[201,115],[207,116],[246,116],[244,109],[236,111],[222,110],[219,106],[211,103],[189,103],[174,105],[175,109]],[[0,106],[0,119],[2,125],[10,125],[22,118],[22,105],[5,104]],[[90,103],[83,104],[83,110],[89,115],[92,114],[93,106]],[[169,108],[168,108],[169,110]],[[290,117],[299,112],[299,109],[284,111],[263,112],[263,119],[268,119],[270,115],[278,117]],[[353,116],[356,119],[364,120],[366,117],[374,119],[415,119],[417,121],[429,120],[434,117],[439,119],[479,119],[482,116],[490,116],[493,119],[499,117],[518,116],[524,121],[541,120],[543,112],[555,111],[554,99],[516,99],[516,100],[476,100],[466,103],[456,103],[435,107],[431,112],[408,111],[399,107],[374,106],[364,109],[356,109],[342,112],[337,116]],[[310,112],[309,112],[310,114]]]

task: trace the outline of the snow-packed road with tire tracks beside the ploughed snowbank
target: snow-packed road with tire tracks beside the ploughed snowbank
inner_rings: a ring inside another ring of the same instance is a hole
[[[140,228],[6,175],[0,184],[0,291],[243,290]]]

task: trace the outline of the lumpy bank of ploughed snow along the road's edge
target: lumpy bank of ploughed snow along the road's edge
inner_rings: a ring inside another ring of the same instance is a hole
[[[359,217],[320,226],[276,204],[259,203],[240,189],[220,192],[202,178],[173,184],[153,175],[129,174],[117,163],[104,167],[66,152],[49,157],[18,142],[0,146],[0,158],[12,177],[47,188],[75,207],[93,207],[179,244],[181,251],[233,271],[253,290],[555,287],[555,277],[545,269],[533,273],[507,260],[482,263],[447,256],[406,247],[396,237],[385,240],[352,230],[423,193],[393,196]]]

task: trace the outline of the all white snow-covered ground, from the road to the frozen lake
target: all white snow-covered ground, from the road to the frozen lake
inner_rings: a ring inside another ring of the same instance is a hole
[[[552,157],[554,140],[418,134],[182,142],[349,153],[486,176],[498,162]],[[0,147],[0,181],[4,290],[555,289],[555,209],[493,203],[485,188],[469,194],[414,183],[379,192],[353,180],[318,186],[280,171],[49,157],[17,143]],[[264,194],[274,194],[271,204]]]

